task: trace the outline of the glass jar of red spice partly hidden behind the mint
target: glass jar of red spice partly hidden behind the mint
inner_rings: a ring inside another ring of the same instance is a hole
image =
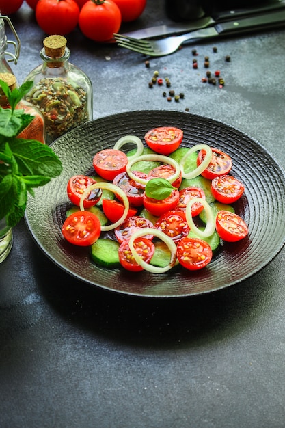
[[[5,82],[10,90],[13,90],[17,86],[16,77],[9,72],[0,73],[0,80]],[[4,109],[10,108],[8,99],[0,88],[0,106]],[[18,138],[23,139],[36,139],[39,142],[45,144],[45,129],[44,129],[44,116],[42,113],[31,103],[25,100],[21,100],[17,105],[16,109],[24,110],[25,113],[33,116],[33,120],[28,126],[18,134]]]

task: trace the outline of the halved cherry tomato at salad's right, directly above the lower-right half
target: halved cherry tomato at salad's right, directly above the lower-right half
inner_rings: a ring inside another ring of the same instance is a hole
[[[236,202],[245,191],[243,184],[230,175],[223,175],[212,180],[211,192],[222,204]]]

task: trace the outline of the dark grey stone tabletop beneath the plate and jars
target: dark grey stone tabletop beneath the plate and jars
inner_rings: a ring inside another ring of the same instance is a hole
[[[45,35],[26,4],[11,18],[22,43],[13,68],[21,83],[40,64]],[[148,0],[124,29],[167,22],[163,1]],[[95,44],[79,30],[67,38],[71,62],[92,80],[94,118],[188,107],[251,135],[284,167],[284,29],[195,44],[198,70],[193,45],[146,68],[145,57],[116,44]],[[201,82],[204,55],[221,70],[223,89]],[[160,88],[150,90],[154,70],[185,99],[167,103]],[[0,426],[284,427],[284,266],[283,249],[254,277],[216,293],[124,297],[68,276],[22,221],[0,266]]]

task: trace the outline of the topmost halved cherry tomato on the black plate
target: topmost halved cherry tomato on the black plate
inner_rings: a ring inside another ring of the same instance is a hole
[[[182,142],[183,131],[173,126],[161,126],[151,129],[144,139],[148,147],[160,155],[169,155],[174,152]]]

